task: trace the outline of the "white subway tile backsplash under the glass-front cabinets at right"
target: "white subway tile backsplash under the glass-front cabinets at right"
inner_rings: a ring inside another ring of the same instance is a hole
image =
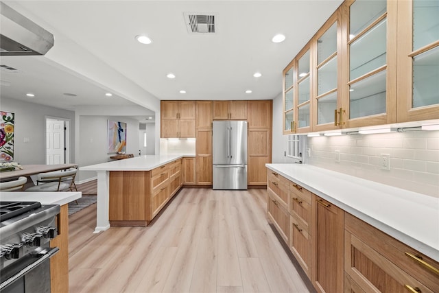
[[[439,198],[439,131],[308,137],[307,148],[310,165]],[[390,155],[390,169],[381,168],[381,154]]]

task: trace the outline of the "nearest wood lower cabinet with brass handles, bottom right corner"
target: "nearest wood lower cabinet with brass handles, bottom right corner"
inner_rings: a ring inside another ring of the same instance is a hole
[[[344,270],[365,292],[439,292],[438,262],[349,213],[344,226]]]

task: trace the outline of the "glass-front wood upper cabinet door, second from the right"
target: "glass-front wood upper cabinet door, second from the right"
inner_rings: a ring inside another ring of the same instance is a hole
[[[396,121],[396,8],[399,1],[348,2],[345,23],[347,68],[341,89],[344,107],[337,111],[342,127]]]

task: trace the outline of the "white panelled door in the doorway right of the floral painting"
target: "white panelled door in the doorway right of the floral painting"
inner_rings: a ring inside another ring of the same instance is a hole
[[[65,163],[64,121],[46,119],[46,164]]]

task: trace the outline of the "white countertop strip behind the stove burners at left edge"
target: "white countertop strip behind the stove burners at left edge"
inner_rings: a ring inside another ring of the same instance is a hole
[[[78,200],[82,197],[80,191],[68,192],[32,192],[32,191],[8,191],[0,194],[2,201],[40,202],[40,204],[59,204],[60,206]]]

